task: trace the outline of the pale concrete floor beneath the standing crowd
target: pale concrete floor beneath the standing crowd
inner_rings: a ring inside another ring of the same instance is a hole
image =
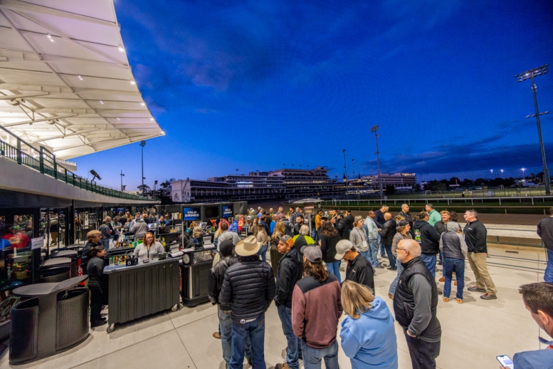
[[[514,254],[512,252],[518,252]],[[484,301],[479,293],[467,292],[462,305],[455,301],[438,303],[438,319],[442,324],[442,348],[438,367],[498,368],[496,356],[536,350],[540,332],[524,308],[518,285],[543,281],[545,252],[523,247],[489,247],[489,271],[498,288],[498,299]],[[524,260],[522,260],[524,259]],[[441,267],[440,267],[441,268]],[[474,285],[474,274],[467,263],[465,282]],[[438,272],[440,274],[440,272]],[[378,269],[376,294],[388,299],[388,287],[394,272]],[[438,276],[437,276],[438,278]],[[443,283],[439,283],[441,287]],[[221,341],[214,339],[217,330],[216,308],[207,303],[196,308],[156,314],[147,319],[120,325],[106,333],[106,325],[91,330],[79,346],[35,363],[15,368],[225,368]],[[400,368],[411,368],[404,335],[396,323]],[[284,361],[286,340],[274,304],[267,312],[265,361],[268,368]],[[341,368],[350,368],[350,361],[339,350]],[[244,368],[250,366],[245,364]],[[10,368],[8,350],[0,357],[0,369]]]

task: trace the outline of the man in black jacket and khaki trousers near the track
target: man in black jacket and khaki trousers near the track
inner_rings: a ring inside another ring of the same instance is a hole
[[[478,220],[478,212],[476,210],[465,211],[465,220],[467,225],[463,229],[465,234],[465,242],[467,243],[468,258],[471,269],[476,277],[476,286],[469,287],[467,290],[471,292],[484,292],[480,299],[495,300],[497,299],[497,290],[494,281],[491,280],[491,276],[487,267],[487,229]]]

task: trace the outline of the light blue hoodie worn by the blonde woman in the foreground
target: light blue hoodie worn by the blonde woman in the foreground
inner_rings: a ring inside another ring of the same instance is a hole
[[[397,339],[393,316],[380,297],[359,319],[346,316],[341,322],[341,348],[353,369],[397,369]]]

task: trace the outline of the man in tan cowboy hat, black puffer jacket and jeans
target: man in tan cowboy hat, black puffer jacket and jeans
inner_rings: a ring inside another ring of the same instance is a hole
[[[232,357],[229,368],[242,368],[247,337],[252,342],[254,368],[265,369],[265,311],[275,294],[271,265],[259,260],[261,243],[255,236],[241,240],[234,252],[238,263],[225,272],[219,303],[230,305]]]

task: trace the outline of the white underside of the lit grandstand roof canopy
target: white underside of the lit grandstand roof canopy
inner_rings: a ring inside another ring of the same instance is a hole
[[[61,159],[164,134],[135,84],[113,0],[0,0],[0,124]]]

